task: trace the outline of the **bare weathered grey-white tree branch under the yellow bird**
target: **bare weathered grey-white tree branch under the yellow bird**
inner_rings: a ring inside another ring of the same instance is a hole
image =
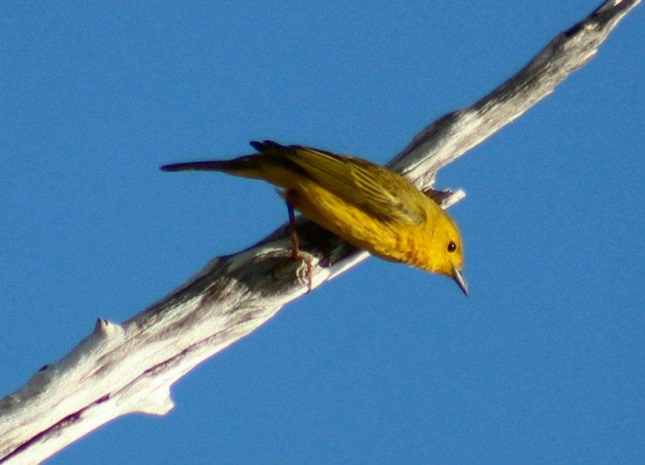
[[[589,61],[638,3],[606,1],[489,95],[429,125],[391,166],[429,190],[439,169],[526,112]],[[433,195],[444,208],[464,197],[450,191]],[[320,266],[322,257],[311,243],[320,243],[317,236],[328,233],[300,218],[299,234],[311,255],[312,289],[367,257],[328,236],[332,265]],[[71,353],[0,401],[0,464],[39,463],[126,413],[170,411],[175,381],[306,294],[306,266],[286,264],[289,254],[286,228],[281,227],[243,252],[214,259],[132,319],[121,324],[99,319]]]

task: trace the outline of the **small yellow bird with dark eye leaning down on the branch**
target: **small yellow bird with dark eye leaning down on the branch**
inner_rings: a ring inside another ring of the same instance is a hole
[[[435,201],[400,174],[360,158],[272,141],[225,161],[177,163],[164,171],[224,171],[282,190],[297,257],[293,208],[348,243],[382,259],[451,277],[464,294],[459,229]]]

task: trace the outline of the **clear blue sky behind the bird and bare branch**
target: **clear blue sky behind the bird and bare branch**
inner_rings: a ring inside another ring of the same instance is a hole
[[[286,220],[159,165],[386,162],[600,0],[106,3],[0,3],[0,395]],[[370,259],[50,463],[645,463],[644,19],[440,172],[470,298]]]

